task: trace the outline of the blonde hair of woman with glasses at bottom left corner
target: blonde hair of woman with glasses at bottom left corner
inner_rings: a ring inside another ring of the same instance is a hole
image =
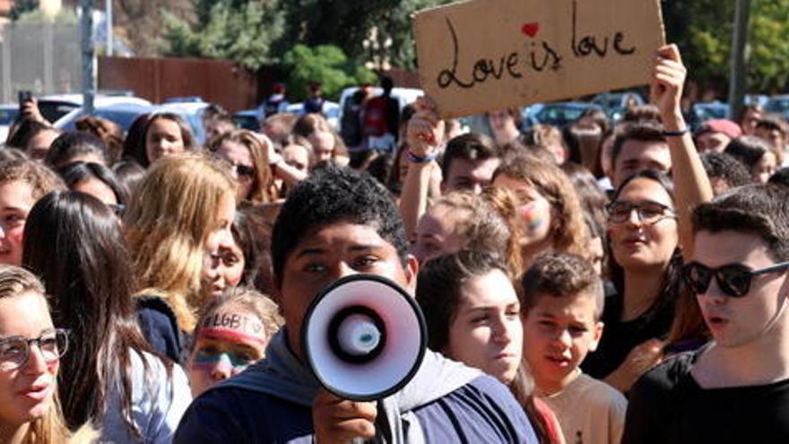
[[[13,298],[22,293],[34,292],[46,301],[44,285],[35,275],[19,266],[0,265],[0,300]],[[30,422],[22,443],[48,444],[67,442],[70,437],[65,426],[63,412],[54,389],[47,413]]]

